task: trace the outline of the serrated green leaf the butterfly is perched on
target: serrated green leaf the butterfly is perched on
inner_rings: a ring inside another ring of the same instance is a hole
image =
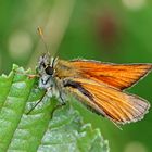
[[[55,99],[43,97],[38,79],[28,74],[14,65],[9,76],[0,77],[0,152],[109,151],[99,129],[84,124],[71,104],[58,106]]]

